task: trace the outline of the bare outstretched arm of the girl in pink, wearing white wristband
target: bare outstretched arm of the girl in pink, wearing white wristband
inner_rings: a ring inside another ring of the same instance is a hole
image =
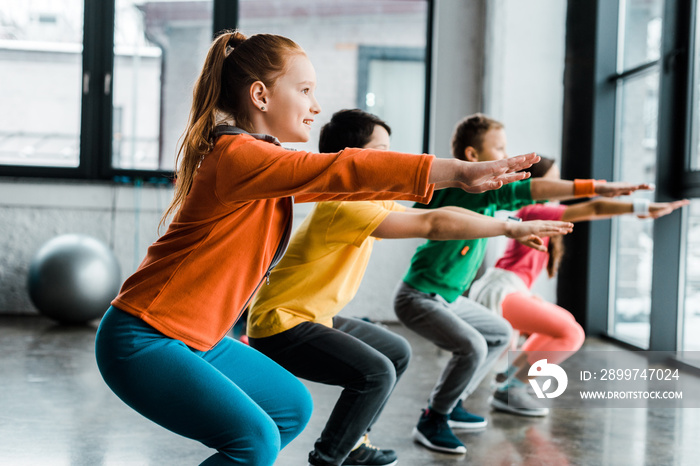
[[[690,204],[690,201],[687,199],[674,202],[652,202],[649,204],[648,214],[638,214],[637,216],[639,218],[659,218],[688,204]],[[619,201],[617,199],[594,199],[567,206],[561,219],[566,222],[585,222],[587,220],[601,220],[633,213],[633,202]]]

